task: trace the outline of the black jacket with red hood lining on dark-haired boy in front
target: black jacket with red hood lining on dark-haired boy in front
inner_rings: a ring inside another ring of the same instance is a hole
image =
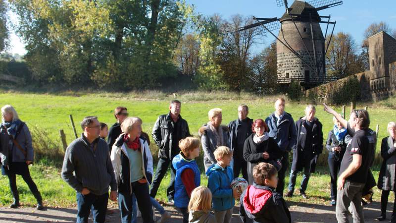
[[[254,183],[242,193],[240,203],[247,223],[292,222],[286,201],[273,188]]]

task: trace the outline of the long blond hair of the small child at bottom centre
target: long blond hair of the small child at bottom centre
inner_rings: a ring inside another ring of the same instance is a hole
[[[196,187],[191,193],[188,210],[210,212],[212,209],[212,193],[205,186]]]

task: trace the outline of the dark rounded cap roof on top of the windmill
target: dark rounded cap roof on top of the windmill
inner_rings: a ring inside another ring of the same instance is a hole
[[[293,4],[289,7],[289,13],[296,21],[310,21],[309,14],[311,14],[312,22],[321,21],[318,11],[315,7],[308,4],[305,1],[295,0]],[[292,20],[291,16],[285,12],[280,19],[281,22],[286,20]]]

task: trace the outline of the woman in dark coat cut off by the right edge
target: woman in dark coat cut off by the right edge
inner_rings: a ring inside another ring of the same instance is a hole
[[[381,216],[378,221],[386,219],[388,196],[390,191],[396,191],[396,123],[391,121],[388,124],[389,136],[382,139],[381,156],[382,162],[380,176],[378,177],[378,189],[381,194]],[[395,198],[396,199],[396,198]],[[395,200],[396,201],[396,200]],[[394,202],[395,202],[394,201]],[[396,206],[394,204],[391,222],[396,222]]]

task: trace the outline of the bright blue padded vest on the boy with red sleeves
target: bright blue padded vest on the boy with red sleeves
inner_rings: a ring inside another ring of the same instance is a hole
[[[182,181],[182,172],[187,168],[191,168],[194,171],[194,183],[198,187],[201,183],[201,176],[197,162],[195,160],[186,160],[181,154],[178,154],[173,158],[172,165],[176,169],[175,206],[177,208],[187,208],[189,206],[190,197]]]

